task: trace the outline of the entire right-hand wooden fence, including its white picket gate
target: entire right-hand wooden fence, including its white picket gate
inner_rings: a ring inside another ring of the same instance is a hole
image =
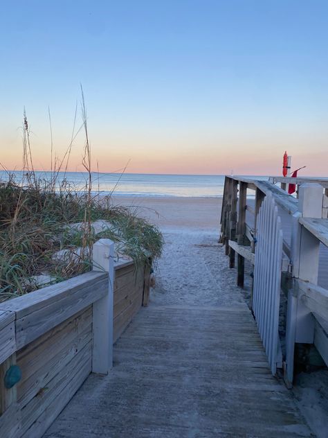
[[[229,256],[230,268],[235,266],[237,254],[238,286],[244,286],[245,260],[255,265],[250,306],[273,374],[274,363],[282,363],[286,385],[291,386],[295,343],[314,344],[328,365],[328,182],[293,178],[291,182],[298,186],[297,198],[288,195],[274,182],[277,181],[226,177],[220,240]],[[286,189],[286,184],[283,187]],[[254,200],[248,197],[249,191]],[[270,209],[265,207],[266,198],[271,200]],[[275,236],[277,227],[282,231],[279,233],[281,239]],[[275,251],[280,253],[277,254],[278,270],[277,263],[271,263]],[[318,286],[318,268],[322,263],[325,281]],[[278,283],[277,288],[275,283]],[[277,310],[277,290],[288,299],[284,327],[286,349],[282,362],[279,353],[274,358],[273,347],[277,315],[279,317],[282,311]],[[273,307],[277,313],[273,312]]]

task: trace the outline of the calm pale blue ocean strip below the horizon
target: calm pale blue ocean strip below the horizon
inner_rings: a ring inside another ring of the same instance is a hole
[[[37,178],[50,179],[50,172],[35,172]],[[17,182],[23,173],[15,172]],[[250,176],[248,176],[251,178]],[[67,172],[58,174],[58,181],[64,178],[78,191],[86,187],[88,174]],[[258,177],[266,179],[265,177]],[[0,171],[0,181],[8,180],[8,173]],[[224,175],[156,175],[145,173],[92,173],[92,191],[104,194],[134,196],[189,196],[216,197],[224,193]]]

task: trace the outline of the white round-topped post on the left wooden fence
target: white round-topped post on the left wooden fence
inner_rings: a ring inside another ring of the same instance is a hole
[[[92,372],[107,374],[113,366],[114,244],[100,239],[93,245],[93,270],[108,272],[108,294],[93,303]]]

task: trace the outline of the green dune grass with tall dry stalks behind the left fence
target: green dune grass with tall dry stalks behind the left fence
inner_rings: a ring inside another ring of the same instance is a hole
[[[8,173],[6,181],[0,182],[0,301],[41,287],[36,276],[43,275],[54,283],[90,270],[92,245],[99,238],[111,238],[116,252],[131,256],[136,264],[150,263],[161,256],[163,236],[157,227],[139,218],[135,210],[113,206],[111,196],[93,194],[83,91],[81,106],[82,125],[78,132],[84,131],[82,165],[89,175],[83,191],[75,189],[65,177],[59,178],[62,169],[66,174],[77,135],[76,109],[69,147],[62,160],[57,159],[57,165],[51,140],[48,179],[37,178],[35,173],[24,110],[24,177],[17,181],[15,174]],[[96,234],[93,222],[100,219],[107,221],[106,226]],[[77,222],[79,225],[73,226]],[[69,256],[54,258],[62,249]]]

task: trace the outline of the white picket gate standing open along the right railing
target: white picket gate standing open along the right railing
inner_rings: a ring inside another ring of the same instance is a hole
[[[253,312],[272,374],[282,366],[279,339],[282,224],[273,195],[259,209],[253,288]]]

